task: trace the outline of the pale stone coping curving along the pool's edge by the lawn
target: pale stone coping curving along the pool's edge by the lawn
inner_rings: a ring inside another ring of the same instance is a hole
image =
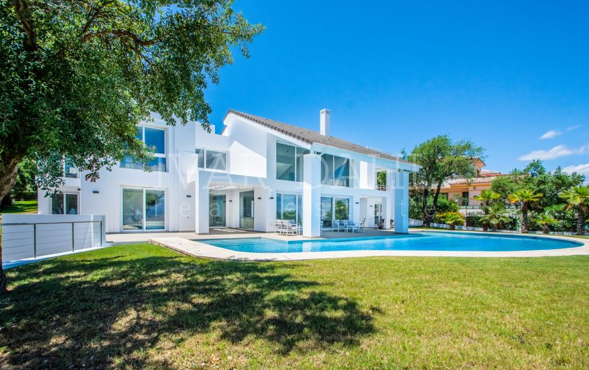
[[[443,230],[442,232],[453,232]],[[479,232],[477,232],[478,234]],[[489,235],[497,235],[495,232],[480,232]],[[556,257],[556,256],[589,256],[589,239],[566,237],[563,235],[525,235],[514,234],[523,237],[546,237],[551,239],[567,240],[581,243],[581,246],[561,249],[541,249],[534,251],[393,251],[393,250],[360,250],[360,251],[326,251],[326,252],[289,252],[289,253],[255,253],[241,252],[224,249],[210,244],[204,244],[197,240],[183,237],[154,237],[148,240],[149,244],[163,246],[187,256],[197,258],[214,258],[221,260],[242,261],[290,261],[290,260],[315,260],[326,258],[359,258],[359,257]],[[272,235],[267,235],[269,239]],[[206,239],[203,237],[202,239]]]

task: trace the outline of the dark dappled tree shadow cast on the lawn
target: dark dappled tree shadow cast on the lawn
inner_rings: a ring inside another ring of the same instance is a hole
[[[112,367],[117,358],[167,367],[133,353],[215,330],[232,343],[265,339],[280,355],[357,346],[374,332],[371,313],[295,279],[288,270],[296,266],[149,256],[9,270],[13,281],[27,281],[0,301],[0,365]]]

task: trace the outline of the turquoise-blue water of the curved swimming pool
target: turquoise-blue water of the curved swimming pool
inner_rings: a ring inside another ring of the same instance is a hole
[[[205,239],[197,242],[232,251],[294,253],[327,251],[537,251],[581,246],[579,242],[546,237],[488,235],[472,232],[419,232],[388,237],[355,237],[310,241],[269,238]]]

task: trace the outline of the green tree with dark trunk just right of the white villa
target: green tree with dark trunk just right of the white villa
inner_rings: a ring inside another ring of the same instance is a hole
[[[447,135],[439,135],[417,145],[410,154],[409,161],[422,166],[410,176],[410,186],[422,193],[422,213],[424,225],[429,226],[438,208],[438,198],[442,184],[451,177],[474,177],[472,165],[475,158],[482,157],[484,149],[470,140],[452,141]],[[428,197],[433,193],[433,202],[428,207]]]

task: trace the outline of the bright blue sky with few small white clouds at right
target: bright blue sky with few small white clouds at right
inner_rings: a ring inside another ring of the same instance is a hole
[[[267,27],[207,89],[228,109],[398,153],[438,134],[488,169],[543,158],[589,175],[588,1],[236,0]]]

